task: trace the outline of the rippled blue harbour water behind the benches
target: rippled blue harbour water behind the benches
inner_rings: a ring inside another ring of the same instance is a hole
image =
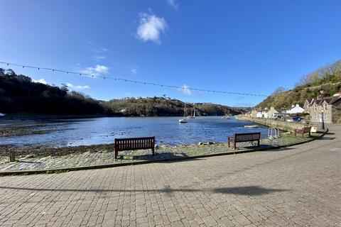
[[[178,123],[179,117],[86,118],[37,122],[39,129],[52,130],[43,135],[0,138],[0,145],[53,145],[54,147],[113,143],[114,138],[156,137],[159,145],[188,145],[199,142],[226,142],[234,133],[261,132],[267,128],[244,128],[248,121],[229,120],[220,116],[197,117]]]

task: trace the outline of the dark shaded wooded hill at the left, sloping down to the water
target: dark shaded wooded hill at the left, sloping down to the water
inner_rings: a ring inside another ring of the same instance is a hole
[[[35,83],[30,77],[0,68],[0,113],[85,115],[107,114],[107,109],[95,99],[68,92],[67,87]]]

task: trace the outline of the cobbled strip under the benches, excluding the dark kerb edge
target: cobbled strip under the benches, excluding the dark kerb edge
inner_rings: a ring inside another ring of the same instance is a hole
[[[311,140],[320,135],[313,133],[310,138],[301,136],[285,135],[281,138],[262,139],[261,148],[273,146],[288,145],[299,143],[305,140]],[[231,145],[233,146],[233,145]],[[251,147],[250,143],[237,143],[238,150],[252,150],[257,147]],[[133,150],[120,152],[121,159],[115,160],[113,152],[103,150],[97,153],[85,152],[64,156],[48,157],[21,157],[18,162],[9,162],[9,158],[0,161],[0,173],[4,171],[15,170],[47,170],[63,167],[81,167],[88,165],[104,165],[115,163],[144,162],[145,160],[163,160],[176,157],[188,157],[196,155],[209,155],[214,153],[234,153],[232,148],[228,148],[226,143],[212,145],[188,145],[178,147],[161,147],[156,150],[156,155],[151,155],[151,150]]]

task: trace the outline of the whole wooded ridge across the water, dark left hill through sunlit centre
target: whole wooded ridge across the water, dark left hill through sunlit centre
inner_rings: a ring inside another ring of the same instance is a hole
[[[241,114],[244,108],[218,104],[186,104],[197,116]],[[166,97],[98,101],[67,87],[33,82],[0,68],[0,113],[50,115],[183,116],[185,103]]]

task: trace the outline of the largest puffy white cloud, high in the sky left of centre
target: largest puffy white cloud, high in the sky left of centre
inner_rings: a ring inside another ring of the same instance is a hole
[[[136,35],[144,42],[151,40],[155,43],[161,43],[160,35],[165,33],[167,23],[164,18],[153,14],[140,13],[140,25],[137,28]]]

